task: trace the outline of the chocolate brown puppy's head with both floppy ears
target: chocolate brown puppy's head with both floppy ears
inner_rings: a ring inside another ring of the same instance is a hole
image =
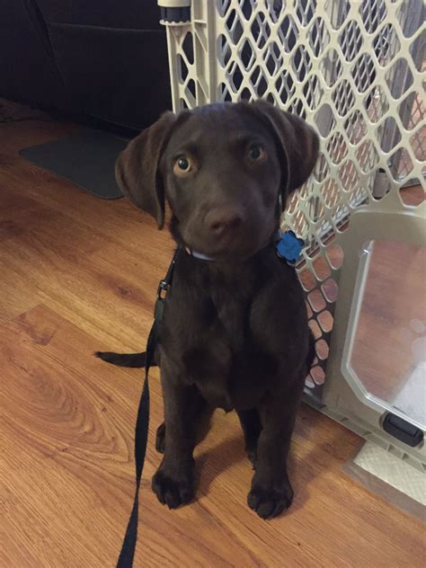
[[[217,259],[256,252],[277,230],[288,194],[311,173],[318,138],[268,102],[168,112],[120,155],[121,189],[174,237]]]

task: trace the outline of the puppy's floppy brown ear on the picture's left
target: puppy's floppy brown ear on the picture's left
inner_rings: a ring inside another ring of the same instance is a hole
[[[164,225],[164,185],[158,164],[177,117],[166,112],[149,129],[143,130],[121,154],[115,176],[121,190],[139,208]]]

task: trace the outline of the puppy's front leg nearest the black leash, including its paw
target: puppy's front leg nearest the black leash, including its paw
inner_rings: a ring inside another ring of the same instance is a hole
[[[195,386],[182,385],[164,367],[161,383],[164,398],[164,457],[153,477],[152,488],[158,501],[175,509],[191,501],[194,496],[194,411],[200,395]]]

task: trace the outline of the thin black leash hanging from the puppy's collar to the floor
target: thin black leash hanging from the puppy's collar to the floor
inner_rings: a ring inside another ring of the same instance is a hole
[[[133,566],[133,558],[135,556],[136,542],[138,539],[139,487],[142,479],[142,472],[144,470],[149,426],[149,368],[151,367],[155,347],[158,342],[158,324],[163,317],[165,298],[172,285],[174,265],[180,252],[181,248],[179,247],[174,253],[173,260],[170,263],[169,270],[167,271],[164,280],[161,280],[158,286],[154,309],[154,324],[149,332],[148,341],[146,342],[145,379],[142,395],[140,396],[135,429],[136,490],[128,527],[126,528],[126,535],[121,546],[117,568],[131,568],[131,566]]]

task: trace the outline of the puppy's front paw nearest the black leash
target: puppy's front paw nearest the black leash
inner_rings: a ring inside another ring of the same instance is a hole
[[[153,477],[152,488],[160,503],[169,509],[177,509],[194,498],[192,473],[173,475],[166,473],[160,466]]]

